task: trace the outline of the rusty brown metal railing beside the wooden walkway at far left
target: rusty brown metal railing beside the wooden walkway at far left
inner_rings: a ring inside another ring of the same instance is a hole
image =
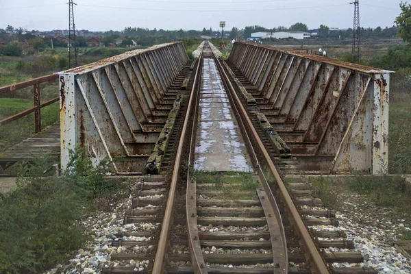
[[[24,82],[19,82],[16,84],[11,84],[8,86],[3,86],[0,87],[0,95],[5,95],[10,92],[15,92],[16,90],[21,90],[23,88],[28,88],[30,86],[33,86],[33,95],[34,95],[34,107],[29,108],[27,110],[24,110],[23,112],[19,112],[17,114],[14,114],[12,116],[9,116],[5,119],[0,120],[0,127],[2,125],[7,125],[9,123],[12,123],[13,121],[16,121],[18,119],[23,118],[24,116],[27,116],[34,112],[34,127],[36,129],[36,133],[41,132],[41,109],[47,107],[47,105],[51,105],[52,103],[55,103],[60,100],[60,97],[55,97],[53,99],[50,99],[49,101],[45,101],[44,103],[41,103],[40,101],[40,84],[45,83],[45,82],[51,82],[55,79],[58,79],[58,75],[51,74],[51,75],[46,75],[34,79],[29,79]]]

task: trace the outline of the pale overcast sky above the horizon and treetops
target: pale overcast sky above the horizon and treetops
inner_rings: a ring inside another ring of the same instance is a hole
[[[29,30],[68,29],[68,0],[0,0],[0,28],[7,25]],[[122,30],[226,29],[247,25],[286,27],[306,23],[347,28],[353,25],[353,0],[75,0],[76,29]],[[401,0],[360,0],[362,27],[392,26]]]

